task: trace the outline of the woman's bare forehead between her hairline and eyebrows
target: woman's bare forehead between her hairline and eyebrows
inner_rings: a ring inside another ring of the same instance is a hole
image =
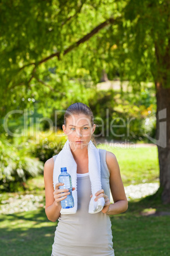
[[[79,115],[70,115],[67,118],[67,124],[70,125],[84,125],[84,124],[90,125],[91,120],[87,115],[79,114]]]

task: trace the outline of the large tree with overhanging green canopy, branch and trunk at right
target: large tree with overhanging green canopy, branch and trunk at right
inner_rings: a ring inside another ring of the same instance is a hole
[[[102,70],[129,80],[134,92],[152,80],[162,201],[170,203],[169,6],[168,0],[1,1],[2,115],[31,107],[32,98],[44,108],[44,95],[46,107],[55,106],[73,78],[95,84]]]

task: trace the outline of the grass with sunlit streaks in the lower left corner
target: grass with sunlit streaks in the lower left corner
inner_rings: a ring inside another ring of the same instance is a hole
[[[44,208],[1,215],[1,256],[51,255],[56,223],[49,222]]]

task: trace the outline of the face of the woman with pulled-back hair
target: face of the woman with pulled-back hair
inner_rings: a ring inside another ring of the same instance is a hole
[[[95,132],[96,125],[91,126],[91,121],[84,114],[71,115],[63,125],[63,132],[70,141],[73,150],[84,148],[91,140],[91,135]]]

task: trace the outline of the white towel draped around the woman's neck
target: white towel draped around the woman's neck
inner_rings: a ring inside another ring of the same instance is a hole
[[[89,213],[98,213],[103,209],[105,205],[105,199],[101,197],[98,201],[94,201],[96,198],[95,194],[98,190],[101,189],[101,169],[100,169],[100,155],[98,149],[89,141],[88,144],[88,167],[89,167],[89,178],[91,181],[91,197],[89,202]],[[74,160],[72,152],[70,150],[69,139],[66,141],[63,149],[58,153],[55,166],[53,171],[53,186],[55,188],[56,183],[58,183],[58,176],[61,173],[61,167],[67,167],[67,172],[72,177],[72,187],[75,187],[75,190],[72,191],[72,196],[74,197],[74,207],[61,209],[60,213],[62,214],[71,214],[76,213],[77,211],[77,164]]]

